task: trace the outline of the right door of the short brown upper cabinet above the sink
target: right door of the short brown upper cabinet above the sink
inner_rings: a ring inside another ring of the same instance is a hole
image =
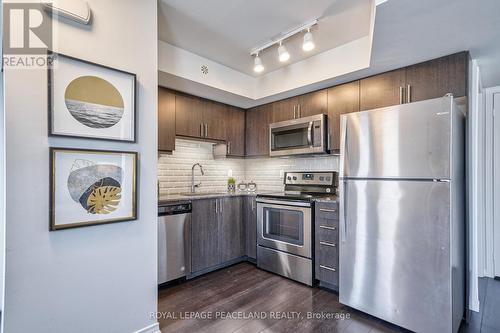
[[[209,100],[203,100],[202,103],[205,105],[203,108],[203,124],[205,126],[203,137],[213,140],[225,140],[227,105]]]

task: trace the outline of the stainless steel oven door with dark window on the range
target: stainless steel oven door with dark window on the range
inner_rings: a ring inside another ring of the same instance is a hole
[[[257,244],[306,258],[312,257],[311,204],[257,200]]]

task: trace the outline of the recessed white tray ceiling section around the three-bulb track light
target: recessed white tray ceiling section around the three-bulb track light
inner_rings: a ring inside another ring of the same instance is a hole
[[[248,75],[250,50],[312,19],[316,48],[302,51],[302,34],[285,45],[291,59],[278,61],[277,46],[260,56],[262,75],[334,49],[368,34],[370,0],[161,0],[159,39]]]

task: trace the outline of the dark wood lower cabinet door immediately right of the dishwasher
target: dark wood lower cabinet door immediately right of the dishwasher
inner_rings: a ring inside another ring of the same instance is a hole
[[[193,200],[191,220],[191,271],[197,272],[218,265],[219,216],[218,199]]]

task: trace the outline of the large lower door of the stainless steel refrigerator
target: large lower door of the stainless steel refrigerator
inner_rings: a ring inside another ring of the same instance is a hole
[[[450,183],[341,187],[340,302],[415,332],[451,333]]]

